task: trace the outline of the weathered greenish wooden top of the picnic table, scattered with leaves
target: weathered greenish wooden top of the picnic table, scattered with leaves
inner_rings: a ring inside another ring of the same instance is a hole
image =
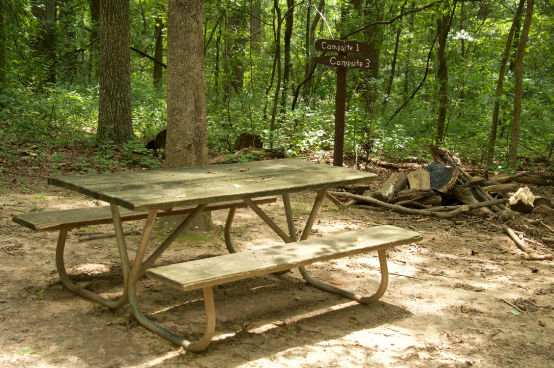
[[[280,195],[370,182],[377,175],[299,159],[48,178],[132,211]]]

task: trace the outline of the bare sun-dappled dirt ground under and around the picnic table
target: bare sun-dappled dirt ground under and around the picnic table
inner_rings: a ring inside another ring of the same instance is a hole
[[[223,284],[214,288],[214,341],[202,353],[187,353],[138,325],[129,305],[111,311],[61,285],[54,263],[58,234],[30,231],[14,224],[12,216],[97,204],[47,185],[40,172],[6,169],[0,173],[2,367],[554,366],[554,262],[522,260],[514,242],[484,218],[464,215],[455,220],[465,224],[454,225],[393,211],[339,210],[326,201],[312,236],[381,224],[423,234],[421,242],[388,251],[391,276],[381,300],[349,302],[307,286],[297,270]],[[389,174],[372,171],[380,180]],[[379,182],[373,185],[376,189]],[[552,187],[532,190],[554,198]],[[299,224],[312,200],[311,193],[291,196]],[[286,228],[280,200],[263,209]],[[212,212],[212,231],[179,237],[158,264],[224,254],[225,216],[225,211]],[[537,208],[526,216],[554,226],[554,210]],[[531,239],[538,236],[522,219],[510,226]],[[139,230],[141,222],[124,227]],[[267,230],[252,211],[238,210],[233,236],[239,250],[280,243]],[[83,231],[111,232],[112,227],[70,231],[68,273],[81,286],[116,298],[122,285],[115,240],[79,241]],[[164,233],[157,228],[152,247]],[[139,235],[128,239],[132,259]],[[537,251],[553,252],[545,246]],[[316,278],[357,293],[369,294],[378,286],[376,253],[309,269]],[[203,331],[200,291],[178,292],[147,278],[138,289],[150,318],[190,338]]]

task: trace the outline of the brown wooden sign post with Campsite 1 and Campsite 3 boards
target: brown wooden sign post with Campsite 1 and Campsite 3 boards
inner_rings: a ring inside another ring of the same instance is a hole
[[[372,61],[363,56],[347,56],[347,53],[367,53],[373,45],[356,41],[319,39],[315,42],[317,51],[335,52],[338,55],[319,56],[312,61],[337,68],[337,95],[335,97],[335,149],[333,165],[342,166],[345,135],[346,69],[370,69]]]

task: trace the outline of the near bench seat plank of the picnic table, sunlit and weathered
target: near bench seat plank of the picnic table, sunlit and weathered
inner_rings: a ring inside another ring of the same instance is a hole
[[[381,250],[422,240],[418,232],[382,225],[279,246],[151,268],[148,277],[181,291]]]

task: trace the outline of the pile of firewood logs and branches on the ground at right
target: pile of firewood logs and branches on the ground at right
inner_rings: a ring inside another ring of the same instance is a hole
[[[524,183],[553,185],[548,178],[537,177],[529,172],[489,178],[472,177],[470,171],[461,165],[459,158],[448,150],[432,145],[431,153],[432,163],[407,174],[392,174],[371,196],[335,191],[329,194],[349,200],[342,206],[392,209],[442,219],[453,219],[471,212],[475,216],[486,216],[488,220],[496,218],[506,221],[515,215],[531,212],[537,206],[552,208],[550,199],[535,196],[524,186]],[[533,221],[535,224],[531,224],[545,227],[554,237],[554,229],[541,220]],[[506,225],[500,229],[504,229],[510,237],[514,235],[517,238],[515,232]],[[550,237],[545,239],[548,242]],[[516,239],[514,241],[518,243]],[[546,255],[546,258],[530,255],[529,247],[525,244],[517,245],[529,255],[528,259],[552,259],[552,255]]]

